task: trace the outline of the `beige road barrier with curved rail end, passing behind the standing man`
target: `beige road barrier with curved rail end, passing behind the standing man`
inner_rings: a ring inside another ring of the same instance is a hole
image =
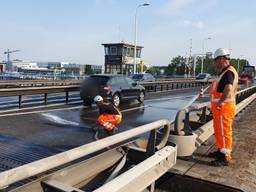
[[[239,113],[253,100],[256,99],[256,86],[238,91],[236,96],[237,111]],[[193,113],[201,111],[200,117]],[[212,114],[210,102],[191,105],[177,112],[174,122],[174,134],[170,135],[169,141],[178,145],[178,156],[192,155],[194,150],[213,135]],[[184,151],[179,146],[190,146]],[[180,150],[179,150],[180,149]],[[182,150],[182,151],[181,151]]]

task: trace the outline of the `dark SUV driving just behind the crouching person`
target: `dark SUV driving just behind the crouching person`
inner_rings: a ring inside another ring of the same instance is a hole
[[[126,99],[138,99],[139,102],[144,102],[145,88],[122,75],[91,75],[82,82],[80,97],[85,105],[91,105],[96,95],[119,106],[120,101]]]

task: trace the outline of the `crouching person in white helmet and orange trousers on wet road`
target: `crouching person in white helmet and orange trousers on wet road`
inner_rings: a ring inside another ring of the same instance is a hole
[[[114,133],[115,130],[117,130],[116,125],[122,121],[121,112],[111,103],[105,102],[100,95],[94,98],[94,102],[99,108],[100,113],[98,123],[103,126],[104,130],[108,133]]]

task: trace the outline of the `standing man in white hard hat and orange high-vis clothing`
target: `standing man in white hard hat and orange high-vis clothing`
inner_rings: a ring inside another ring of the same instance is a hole
[[[215,51],[214,64],[222,69],[210,88],[213,126],[218,150],[209,153],[208,156],[215,158],[211,165],[227,166],[231,160],[232,123],[236,113],[238,74],[230,65],[230,52],[226,48]]]

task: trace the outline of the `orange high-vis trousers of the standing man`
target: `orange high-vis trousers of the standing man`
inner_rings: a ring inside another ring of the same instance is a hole
[[[220,152],[226,155],[226,160],[231,160],[232,124],[236,113],[236,104],[224,102],[220,109],[216,108],[217,102],[212,102],[211,105],[216,145]]]

